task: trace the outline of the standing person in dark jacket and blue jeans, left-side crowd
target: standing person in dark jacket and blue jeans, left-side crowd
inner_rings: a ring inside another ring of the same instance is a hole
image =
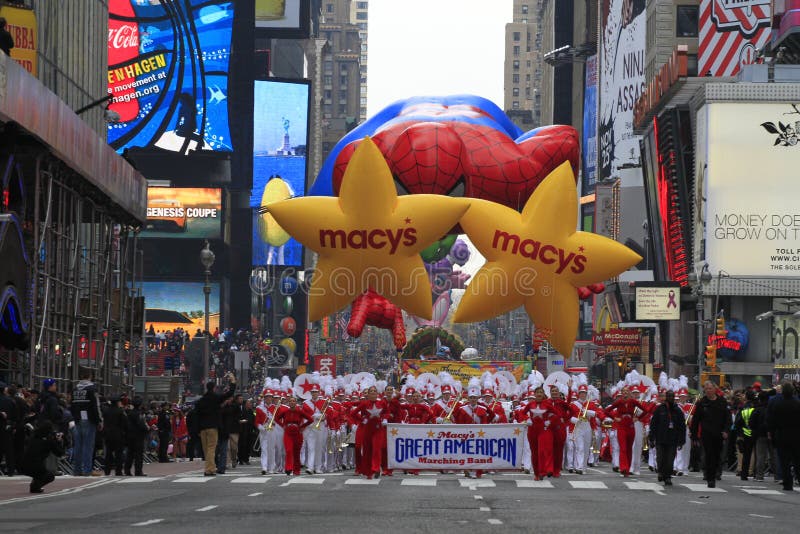
[[[75,418],[75,444],[73,452],[73,472],[75,476],[100,476],[94,470],[94,448],[97,431],[103,430],[103,414],[100,411],[100,397],[92,380],[91,369],[81,372],[81,380],[72,392],[72,417]]]

